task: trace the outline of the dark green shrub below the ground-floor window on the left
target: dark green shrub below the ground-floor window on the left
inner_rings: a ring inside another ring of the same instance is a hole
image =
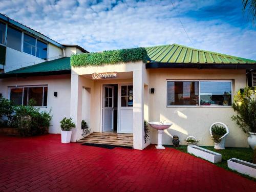
[[[18,105],[15,108],[17,130],[21,136],[42,135],[48,132],[50,113],[39,112],[39,108],[34,108],[35,101],[29,100],[29,105]]]

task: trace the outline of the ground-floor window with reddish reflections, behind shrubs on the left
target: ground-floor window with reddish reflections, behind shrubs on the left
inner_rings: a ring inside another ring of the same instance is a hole
[[[10,88],[10,100],[14,104],[28,105],[30,99],[35,100],[35,106],[47,106],[47,86],[30,86]]]

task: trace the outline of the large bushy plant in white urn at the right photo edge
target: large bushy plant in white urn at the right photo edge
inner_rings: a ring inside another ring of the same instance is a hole
[[[232,120],[249,134],[248,144],[252,149],[256,147],[256,87],[244,88],[234,96],[232,108],[237,115]]]

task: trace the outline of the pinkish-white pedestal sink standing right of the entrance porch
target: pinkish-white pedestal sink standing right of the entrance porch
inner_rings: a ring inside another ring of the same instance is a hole
[[[148,122],[148,124],[150,124],[150,126],[158,132],[158,143],[156,148],[159,150],[164,150],[165,147],[163,146],[163,130],[168,129],[170,126],[172,126],[173,123],[151,121]]]

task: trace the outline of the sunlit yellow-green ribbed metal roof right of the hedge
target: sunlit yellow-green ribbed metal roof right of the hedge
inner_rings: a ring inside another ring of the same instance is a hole
[[[255,60],[189,48],[178,44],[145,49],[153,63],[256,63]]]

